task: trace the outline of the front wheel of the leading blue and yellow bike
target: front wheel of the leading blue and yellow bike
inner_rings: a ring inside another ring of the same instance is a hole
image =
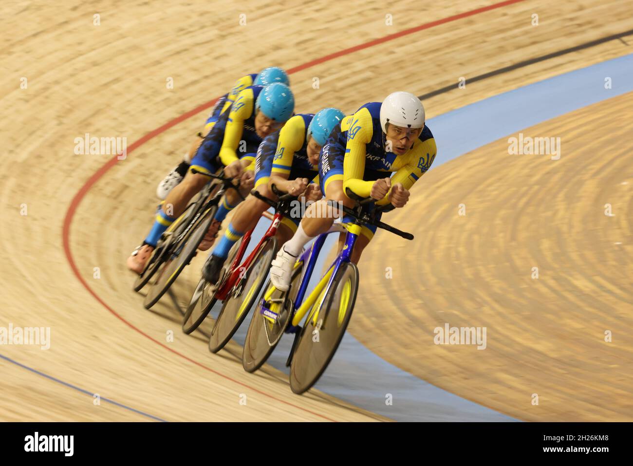
[[[348,327],[358,293],[358,268],[341,265],[322,305],[308,315],[292,355],[290,387],[294,393],[309,390],[325,372]]]

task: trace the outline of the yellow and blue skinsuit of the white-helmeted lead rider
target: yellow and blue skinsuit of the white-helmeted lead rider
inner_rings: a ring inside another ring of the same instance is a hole
[[[433,134],[425,126],[413,146],[404,155],[396,155],[386,149],[385,134],[380,125],[381,102],[370,102],[356,113],[346,116],[340,127],[335,127],[323,146],[319,158],[321,189],[325,192],[332,180],[342,180],[346,188],[363,198],[370,196],[373,182],[391,177],[391,186],[402,183],[404,189],[411,186],[429,170],[437,148]],[[391,192],[391,190],[390,190]],[[376,205],[389,203],[389,193]],[[346,220],[345,218],[343,219]],[[363,234],[371,239],[376,227],[363,227]]]

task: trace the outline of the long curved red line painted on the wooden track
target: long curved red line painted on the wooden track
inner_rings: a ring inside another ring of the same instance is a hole
[[[291,68],[291,69],[287,70],[287,73],[288,74],[297,73],[299,71],[306,70],[307,68],[311,68],[312,66],[320,65],[321,63],[325,63],[325,61],[334,60],[335,58],[339,58],[341,56],[348,55],[348,54],[354,53],[354,52],[359,51],[359,50],[363,50],[363,49],[367,49],[369,47],[373,47],[373,46],[376,46],[376,45],[379,45],[379,44],[383,44],[384,42],[392,41],[393,39],[398,39],[399,37],[403,37],[404,35],[413,34],[414,32],[419,32],[419,31],[422,31],[422,30],[425,30],[425,29],[429,29],[429,28],[432,28],[432,27],[439,26],[441,24],[446,24],[446,23],[449,23],[449,22],[453,22],[453,21],[456,21],[456,20],[467,18],[468,16],[478,15],[479,13],[484,13],[486,11],[491,11],[492,9],[502,8],[503,6],[508,6],[508,5],[511,5],[511,4],[520,3],[522,1],[525,1],[525,0],[506,0],[506,1],[503,1],[501,3],[491,4],[489,6],[484,6],[482,8],[477,8],[477,9],[473,9],[473,10],[470,10],[470,11],[466,11],[465,13],[460,13],[459,15],[448,16],[447,18],[443,18],[441,20],[437,20],[437,21],[433,21],[433,22],[430,22],[430,23],[422,24],[422,25],[417,26],[417,27],[405,29],[403,31],[396,32],[395,34],[385,35],[385,37],[380,37],[379,39],[374,39],[373,41],[365,42],[364,44],[360,44],[360,45],[354,46],[354,47],[349,47],[348,49],[343,49],[341,51],[338,51],[338,52],[335,52],[335,53],[332,53],[332,54],[329,54],[329,55],[325,55],[325,56],[323,56],[321,58],[317,58],[316,60],[308,61],[307,63],[304,63],[303,65],[295,66],[294,68]],[[132,151],[134,151],[135,149],[139,148],[140,146],[142,146],[142,144],[145,144],[150,139],[153,139],[157,135],[165,132],[166,130],[168,130],[168,129],[172,128],[172,127],[174,127],[178,123],[184,122],[184,120],[187,120],[188,118],[191,118],[191,116],[194,116],[197,113],[199,113],[199,112],[201,112],[203,110],[206,110],[207,108],[210,108],[216,101],[217,101],[217,98],[215,98],[212,101],[209,101],[207,103],[201,104],[201,105],[197,106],[196,108],[194,108],[193,110],[190,110],[187,113],[184,113],[184,114],[178,116],[177,118],[174,118],[170,122],[165,123],[161,127],[158,127],[157,129],[147,133],[146,135],[141,137],[141,139],[139,139],[138,141],[133,142],[130,145],[130,147],[127,149],[127,154],[129,154]],[[75,194],[75,196],[73,197],[72,201],[70,202],[70,206],[68,206],[68,210],[66,211],[66,217],[64,218],[64,225],[63,225],[63,230],[62,230],[62,240],[63,240],[64,252],[66,254],[66,259],[68,260],[68,263],[70,264],[70,268],[72,268],[73,273],[75,274],[75,276],[77,277],[79,282],[84,286],[84,288],[87,289],[88,293],[92,294],[92,296],[94,296],[94,299],[99,301],[99,303],[101,303],[101,305],[103,305],[104,308],[106,308],[113,315],[115,315],[116,318],[120,319],[125,325],[128,325],[128,327],[130,327],[131,329],[134,329],[135,331],[139,332],[139,334],[141,334],[142,336],[150,339],[151,341],[153,341],[154,343],[156,343],[156,344],[160,345],[161,347],[167,349],[168,351],[171,351],[175,355],[178,355],[181,358],[184,358],[185,360],[197,365],[198,367],[201,367],[201,368],[203,368],[205,370],[213,372],[213,374],[219,375],[220,377],[223,377],[224,379],[227,379],[229,381],[235,382],[236,384],[241,385],[243,387],[247,387],[248,389],[251,389],[251,390],[253,390],[256,393],[263,394],[264,396],[267,396],[268,398],[271,398],[272,400],[279,401],[280,403],[284,403],[285,405],[292,406],[293,408],[297,408],[297,409],[302,410],[304,412],[307,412],[307,413],[313,414],[315,416],[322,417],[323,419],[331,420],[331,421],[334,422],[334,419],[330,419],[329,417],[326,417],[326,416],[324,416],[322,414],[315,413],[315,412],[310,411],[310,410],[308,410],[306,408],[302,408],[301,406],[297,406],[297,405],[294,405],[292,403],[289,403],[288,401],[282,400],[280,398],[276,398],[275,396],[272,396],[271,394],[265,393],[264,391],[261,391],[260,389],[257,389],[257,388],[255,388],[253,386],[249,386],[248,384],[245,384],[244,382],[240,382],[240,381],[237,381],[235,379],[232,379],[232,377],[229,377],[228,375],[222,374],[222,373],[220,373],[220,372],[218,372],[218,371],[216,371],[216,370],[214,370],[214,369],[212,369],[212,368],[210,368],[210,367],[208,367],[208,366],[206,366],[206,365],[204,365],[202,363],[197,362],[196,360],[193,360],[193,359],[189,358],[188,356],[185,356],[182,353],[179,353],[175,349],[170,348],[169,346],[166,346],[166,344],[161,343],[160,341],[154,339],[153,337],[151,337],[148,334],[146,334],[145,332],[143,332],[138,327],[135,327],[134,325],[130,324],[130,322],[125,320],[125,318],[123,318],[121,315],[119,315],[113,308],[108,306],[108,304],[105,301],[103,301],[103,299],[99,298],[99,295],[97,295],[97,293],[95,293],[94,290],[88,285],[88,283],[85,281],[84,277],[82,277],[82,275],[80,274],[79,269],[77,268],[77,264],[75,263],[75,260],[73,258],[72,250],[70,249],[70,227],[72,225],[72,221],[73,221],[73,217],[75,216],[75,212],[77,211],[77,208],[80,205],[81,201],[84,199],[85,194],[87,194],[87,192],[90,191],[92,186],[94,186],[94,184],[96,184],[96,182],[99,181],[99,179],[101,179],[101,177],[103,177],[103,175],[106,172],[108,172],[108,170],[110,170],[110,168],[112,168],[112,167],[114,167],[116,165],[117,161],[118,161],[117,156],[113,156],[113,158],[111,158],[108,162],[106,162],[103,165],[103,167],[99,168],[99,170],[97,170],[85,182],[84,186],[82,186],[79,189],[77,194]]]

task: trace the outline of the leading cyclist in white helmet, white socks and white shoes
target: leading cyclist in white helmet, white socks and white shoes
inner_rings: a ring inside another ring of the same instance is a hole
[[[345,194],[350,189],[358,196],[372,197],[375,205],[404,207],[409,189],[429,170],[435,156],[436,143],[425,126],[424,107],[410,92],[394,92],[382,103],[367,103],[344,118],[320,154],[320,186],[325,199],[306,210],[292,239],[279,249],[270,269],[273,285],[287,291],[292,266],[303,246],[332,226],[339,212],[327,208],[328,200],[353,206]],[[393,176],[391,172],[395,172]],[[354,245],[354,263],[375,230],[372,225],[363,227]]]

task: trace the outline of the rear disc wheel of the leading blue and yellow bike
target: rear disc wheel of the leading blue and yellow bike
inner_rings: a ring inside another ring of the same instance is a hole
[[[244,349],[242,349],[242,367],[246,372],[258,370],[268,360],[284,335],[292,317],[292,303],[299,293],[302,265],[303,263],[296,265],[292,272],[289,295],[275,289],[270,280],[266,283],[266,293],[255,306],[251,324],[246,333]]]

